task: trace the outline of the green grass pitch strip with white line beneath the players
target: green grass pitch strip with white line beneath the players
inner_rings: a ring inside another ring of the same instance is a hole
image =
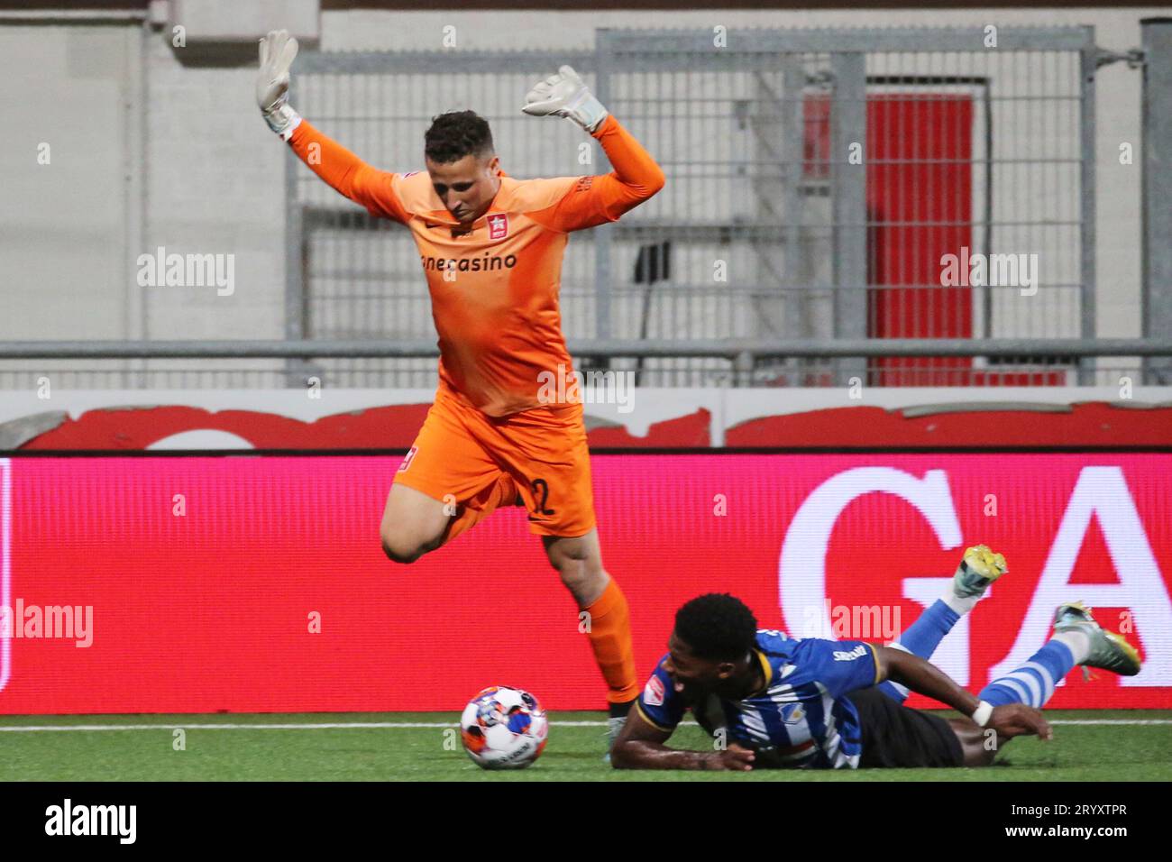
[[[485,772],[475,766],[458,737],[445,733],[455,726],[451,713],[6,715],[0,717],[0,781],[1172,780],[1172,711],[1054,711],[1047,717],[1057,722],[1051,742],[1014,740],[997,763],[984,769],[732,774],[612,769],[602,760],[605,720],[597,712],[551,713],[545,753],[534,766],[518,772]],[[252,729],[255,725],[329,724],[345,726]],[[393,726],[354,726],[362,724]],[[200,725],[233,727],[200,729]],[[47,727],[60,729],[15,729]],[[184,729],[184,751],[176,751],[176,728]],[[710,740],[697,726],[686,725],[672,745],[706,748]]]

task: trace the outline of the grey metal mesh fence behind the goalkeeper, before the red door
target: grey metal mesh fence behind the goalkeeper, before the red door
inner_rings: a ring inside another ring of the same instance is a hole
[[[458,65],[450,52],[308,52],[294,99],[390,170],[421,168],[431,117],[470,107],[491,122],[513,176],[605,172],[577,127],[519,111],[534,77],[578,68],[668,177],[620,222],[571,239],[563,323],[584,369],[634,369],[650,386],[1159,382],[1172,380],[1166,351],[1096,349],[1093,106],[1096,69],[1146,62],[1147,340],[1127,344],[1151,347],[1172,332],[1172,249],[1152,239],[1172,219],[1151,203],[1172,194],[1166,171],[1151,169],[1168,147],[1158,135],[1172,133],[1172,97],[1154,86],[1172,68],[1170,29],[1145,26],[1145,52],[1130,55],[1097,48],[1090,27],[600,29],[590,53],[459,52]],[[88,379],[435,384],[408,232],[295,158],[286,177],[284,353],[195,361],[161,345],[121,360],[90,354]],[[970,269],[977,258],[983,277]],[[298,353],[321,341],[389,349]],[[700,349],[736,341],[754,348]],[[850,344],[866,349],[836,348]],[[0,359],[18,355],[32,354],[0,346]],[[80,373],[62,354],[36,355],[46,371]],[[0,367],[0,386],[13,374]]]

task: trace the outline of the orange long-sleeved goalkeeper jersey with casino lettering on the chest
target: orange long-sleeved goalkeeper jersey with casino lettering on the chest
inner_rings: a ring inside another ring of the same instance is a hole
[[[485,414],[504,416],[541,403],[543,372],[571,373],[558,307],[568,232],[613,222],[663,186],[659,165],[613,116],[594,137],[611,159],[611,174],[502,175],[500,189],[470,232],[461,232],[427,171],[376,170],[305,121],[289,145],[372,216],[411,231],[440,333],[441,382]]]

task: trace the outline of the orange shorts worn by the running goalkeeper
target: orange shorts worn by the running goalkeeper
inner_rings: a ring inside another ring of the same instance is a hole
[[[493,418],[441,382],[395,481],[432,500],[463,505],[502,474],[512,477],[524,500],[530,532],[568,537],[594,529],[590,450],[580,403]]]

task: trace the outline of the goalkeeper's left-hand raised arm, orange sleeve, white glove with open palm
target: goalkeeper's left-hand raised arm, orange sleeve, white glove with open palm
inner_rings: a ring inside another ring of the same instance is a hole
[[[390,188],[394,175],[372,168],[322,135],[288,103],[289,67],[297,50],[297,39],[286,30],[272,30],[260,40],[257,106],[268,128],[340,195],[366,206],[372,215],[406,220],[402,204]]]

